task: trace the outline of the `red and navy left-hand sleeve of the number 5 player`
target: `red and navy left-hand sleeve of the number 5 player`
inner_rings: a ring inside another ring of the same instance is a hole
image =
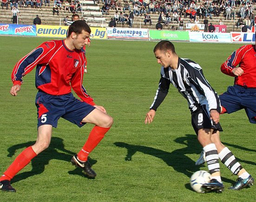
[[[26,56],[21,58],[13,68],[12,82],[13,85],[21,85],[23,83],[23,76],[31,72],[38,63],[47,63],[51,51],[54,50],[56,44],[54,41],[44,42]]]

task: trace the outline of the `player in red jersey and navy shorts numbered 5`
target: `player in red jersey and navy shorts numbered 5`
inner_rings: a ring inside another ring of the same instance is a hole
[[[81,50],[87,45],[90,33],[91,29],[84,21],[73,22],[65,40],[42,43],[13,68],[11,95],[16,96],[21,90],[23,76],[36,66],[38,134],[36,143],[23,150],[1,176],[1,190],[16,191],[11,186],[11,179],[50,145],[52,127],[57,127],[60,117],[79,127],[86,123],[95,125],[85,145],[71,162],[81,167],[88,176],[96,176],[88,162],[88,155],[110,129],[113,119],[106,114],[104,107],[95,105],[82,85],[85,54]],[[72,95],[71,88],[82,101]]]

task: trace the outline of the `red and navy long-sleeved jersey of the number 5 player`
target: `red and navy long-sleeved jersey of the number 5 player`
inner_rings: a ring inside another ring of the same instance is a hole
[[[85,70],[85,53],[70,50],[63,40],[42,43],[17,62],[12,71],[13,85],[21,85],[23,76],[36,66],[36,87],[50,95],[66,95],[71,87],[90,105],[95,105],[82,85]]]

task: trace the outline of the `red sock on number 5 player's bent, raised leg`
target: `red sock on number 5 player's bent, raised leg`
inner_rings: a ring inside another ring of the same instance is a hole
[[[82,150],[77,154],[78,159],[87,161],[89,153],[100,143],[109,129],[110,127],[94,126]]]

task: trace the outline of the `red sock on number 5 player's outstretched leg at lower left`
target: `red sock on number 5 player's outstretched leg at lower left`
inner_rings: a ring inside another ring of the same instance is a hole
[[[12,162],[12,164],[8,167],[8,169],[1,176],[0,181],[3,180],[11,180],[14,175],[16,175],[20,170],[23,169],[28,163],[36,157],[37,154],[32,149],[32,146],[27,147],[27,149],[23,150],[21,154],[19,154],[16,159]]]

